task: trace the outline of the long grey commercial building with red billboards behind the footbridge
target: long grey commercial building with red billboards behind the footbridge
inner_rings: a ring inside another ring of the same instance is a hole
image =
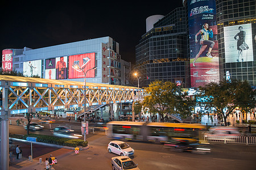
[[[93,68],[96,67],[94,70]],[[131,64],[123,61],[119,44],[101,37],[68,44],[31,49],[5,49],[2,69],[46,79],[129,85]]]

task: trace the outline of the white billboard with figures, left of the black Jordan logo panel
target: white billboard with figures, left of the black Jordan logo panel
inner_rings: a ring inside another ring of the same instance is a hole
[[[42,59],[23,62],[23,74],[27,76],[42,74]]]

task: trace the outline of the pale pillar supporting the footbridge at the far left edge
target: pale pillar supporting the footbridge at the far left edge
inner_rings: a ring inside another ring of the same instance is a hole
[[[1,169],[9,169],[9,121],[1,120]]]

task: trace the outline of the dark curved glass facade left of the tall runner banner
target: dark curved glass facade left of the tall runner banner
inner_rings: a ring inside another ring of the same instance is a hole
[[[156,79],[190,86],[186,15],[184,7],[176,8],[142,36],[135,55],[141,87]]]

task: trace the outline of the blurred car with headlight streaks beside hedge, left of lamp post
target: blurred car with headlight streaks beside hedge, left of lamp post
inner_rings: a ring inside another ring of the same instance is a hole
[[[82,135],[75,134],[74,130],[71,130],[65,126],[58,126],[54,128],[53,130],[53,135],[56,137],[61,137],[61,138],[80,138]]]

